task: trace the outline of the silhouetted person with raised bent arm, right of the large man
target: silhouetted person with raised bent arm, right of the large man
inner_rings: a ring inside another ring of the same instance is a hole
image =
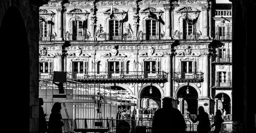
[[[211,123],[209,120],[209,115],[206,112],[204,112],[203,106],[198,107],[198,115],[196,116],[195,120],[193,118],[191,118],[190,114],[189,114],[189,118],[194,123],[196,123],[198,121],[198,124],[197,124],[197,132],[198,133],[205,133],[205,132],[209,132],[211,130]]]

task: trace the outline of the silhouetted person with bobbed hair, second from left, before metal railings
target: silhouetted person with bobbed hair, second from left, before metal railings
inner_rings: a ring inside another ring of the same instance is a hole
[[[63,122],[61,121],[61,103],[54,103],[52,106],[52,113],[50,114],[48,129],[49,132],[52,133],[62,133],[62,126],[64,126]]]

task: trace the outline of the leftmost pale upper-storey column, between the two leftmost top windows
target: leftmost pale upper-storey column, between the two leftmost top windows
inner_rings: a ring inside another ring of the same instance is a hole
[[[58,34],[56,40],[63,40],[63,13],[64,9],[62,7],[57,9],[58,12]]]

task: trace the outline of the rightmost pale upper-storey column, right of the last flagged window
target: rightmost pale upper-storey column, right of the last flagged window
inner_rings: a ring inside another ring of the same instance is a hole
[[[209,39],[209,33],[208,33],[208,29],[209,29],[209,16],[208,16],[208,6],[202,6],[202,10],[203,10],[203,35],[202,35],[202,39]]]

